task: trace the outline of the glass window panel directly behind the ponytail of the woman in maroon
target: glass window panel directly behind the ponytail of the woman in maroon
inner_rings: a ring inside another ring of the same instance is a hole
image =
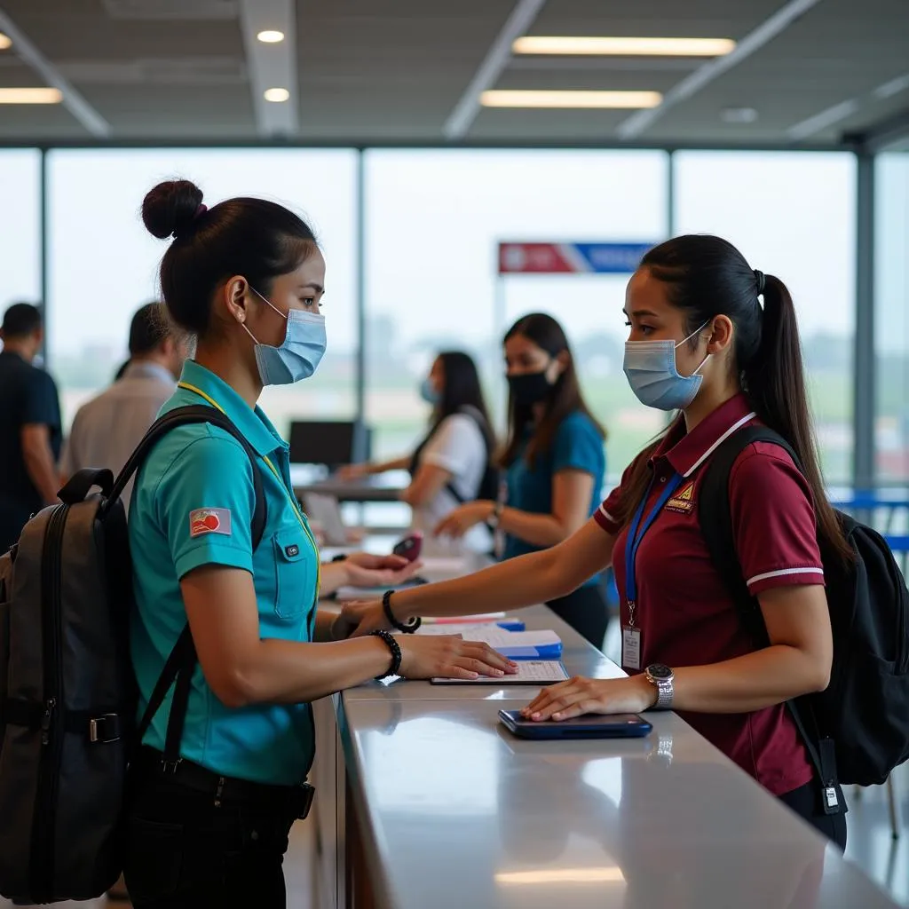
[[[674,162],[676,233],[724,237],[792,292],[826,479],[850,483],[854,155],[680,152]]]

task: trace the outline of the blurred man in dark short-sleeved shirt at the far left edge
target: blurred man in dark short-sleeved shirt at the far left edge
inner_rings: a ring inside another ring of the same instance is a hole
[[[54,380],[34,365],[44,345],[41,310],[17,303],[0,328],[0,553],[35,512],[56,501],[62,440]]]

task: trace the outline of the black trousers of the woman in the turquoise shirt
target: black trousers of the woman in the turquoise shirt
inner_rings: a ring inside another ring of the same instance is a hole
[[[131,789],[124,873],[135,909],[285,909],[287,800],[215,804],[149,767]]]

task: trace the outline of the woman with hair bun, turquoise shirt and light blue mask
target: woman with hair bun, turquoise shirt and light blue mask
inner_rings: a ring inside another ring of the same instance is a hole
[[[335,641],[317,609],[319,554],[295,501],[288,446],[256,406],[264,385],[315,372],[325,261],[310,228],[281,205],[235,198],[210,210],[187,181],[145,197],[149,232],[174,240],[161,286],[176,325],[195,335],[164,412],[208,405],[255,450],[255,466],[210,424],[165,435],[130,507],[140,714],[188,620],[199,666],[180,760],[165,764],[171,698],[132,768],[125,881],[136,909],[285,905],[287,834],[314,754],[310,702],[390,671],[408,678],[504,674],[484,644],[387,633]],[[253,471],[267,517],[254,548]]]

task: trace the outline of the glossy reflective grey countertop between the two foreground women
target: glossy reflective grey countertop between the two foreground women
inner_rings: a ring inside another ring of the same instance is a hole
[[[571,674],[621,674],[542,606]],[[525,742],[535,689],[369,684],[338,700],[382,909],[895,906],[675,714],[634,741]]]

